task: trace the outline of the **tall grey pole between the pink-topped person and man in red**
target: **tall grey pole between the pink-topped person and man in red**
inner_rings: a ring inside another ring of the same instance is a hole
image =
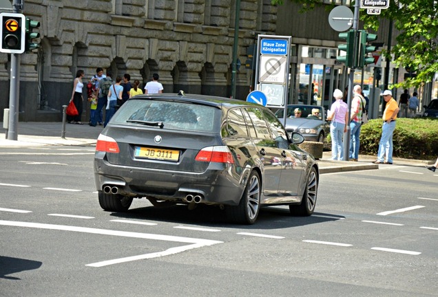
[[[353,59],[357,56],[357,28],[359,28],[359,7],[360,1],[355,1],[355,12],[353,16],[353,30],[355,32],[355,39],[353,43]],[[347,95],[347,104],[348,104],[348,122],[346,122],[346,131],[344,133],[344,157],[342,158],[344,161],[348,161],[350,155],[350,137],[351,137],[351,128],[350,128],[350,117],[351,117],[351,95],[353,94],[353,82],[355,78],[355,63],[353,63],[353,67],[350,69],[350,74],[348,76],[348,95]]]

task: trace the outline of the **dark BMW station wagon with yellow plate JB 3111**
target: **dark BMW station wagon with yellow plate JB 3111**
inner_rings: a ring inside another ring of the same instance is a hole
[[[96,143],[94,180],[101,208],[124,212],[134,198],[220,206],[252,224],[260,207],[315,210],[319,169],[266,107],[186,94],[131,98]]]

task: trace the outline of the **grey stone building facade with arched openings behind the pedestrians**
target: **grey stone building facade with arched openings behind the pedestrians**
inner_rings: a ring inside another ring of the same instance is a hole
[[[277,9],[269,0],[241,0],[240,61],[256,32],[275,34]],[[165,92],[230,96],[236,0],[26,0],[22,13],[41,22],[41,48],[20,55],[21,121],[60,120],[77,69],[87,80],[103,67],[143,85],[156,72]],[[9,69],[10,55],[0,53],[1,110]],[[236,98],[246,98],[250,76],[240,67]]]

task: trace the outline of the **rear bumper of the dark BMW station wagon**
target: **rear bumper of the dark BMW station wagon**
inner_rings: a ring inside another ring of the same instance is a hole
[[[201,195],[203,203],[238,205],[246,179],[231,164],[211,163],[203,173],[156,170],[110,164],[94,159],[96,190],[117,186],[121,195],[183,201],[188,194]]]

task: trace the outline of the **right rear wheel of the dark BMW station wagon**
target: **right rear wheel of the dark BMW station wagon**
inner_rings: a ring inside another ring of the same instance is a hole
[[[229,218],[236,223],[253,224],[260,210],[261,195],[260,176],[257,171],[251,172],[247,186],[238,206],[227,207]]]

